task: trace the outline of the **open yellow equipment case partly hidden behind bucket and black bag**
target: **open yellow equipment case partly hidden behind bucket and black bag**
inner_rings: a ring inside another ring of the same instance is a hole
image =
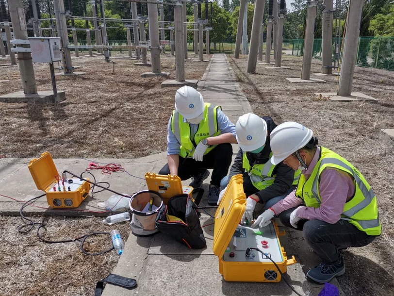
[[[168,199],[180,194],[187,194],[193,200],[193,187],[182,186],[181,178],[177,175],[171,176],[168,174],[165,176],[148,172],[145,174],[145,180],[147,181],[148,190],[160,193],[165,205]]]

